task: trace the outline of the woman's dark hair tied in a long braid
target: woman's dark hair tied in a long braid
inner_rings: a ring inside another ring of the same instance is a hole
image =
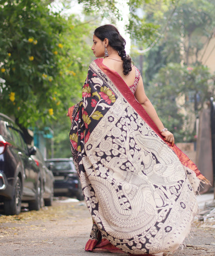
[[[94,35],[102,41],[104,41],[105,38],[108,38],[110,46],[118,51],[119,56],[123,61],[123,73],[127,75],[131,71],[131,58],[129,55],[126,55],[126,40],[120,36],[118,29],[110,24],[103,25],[96,28]]]

